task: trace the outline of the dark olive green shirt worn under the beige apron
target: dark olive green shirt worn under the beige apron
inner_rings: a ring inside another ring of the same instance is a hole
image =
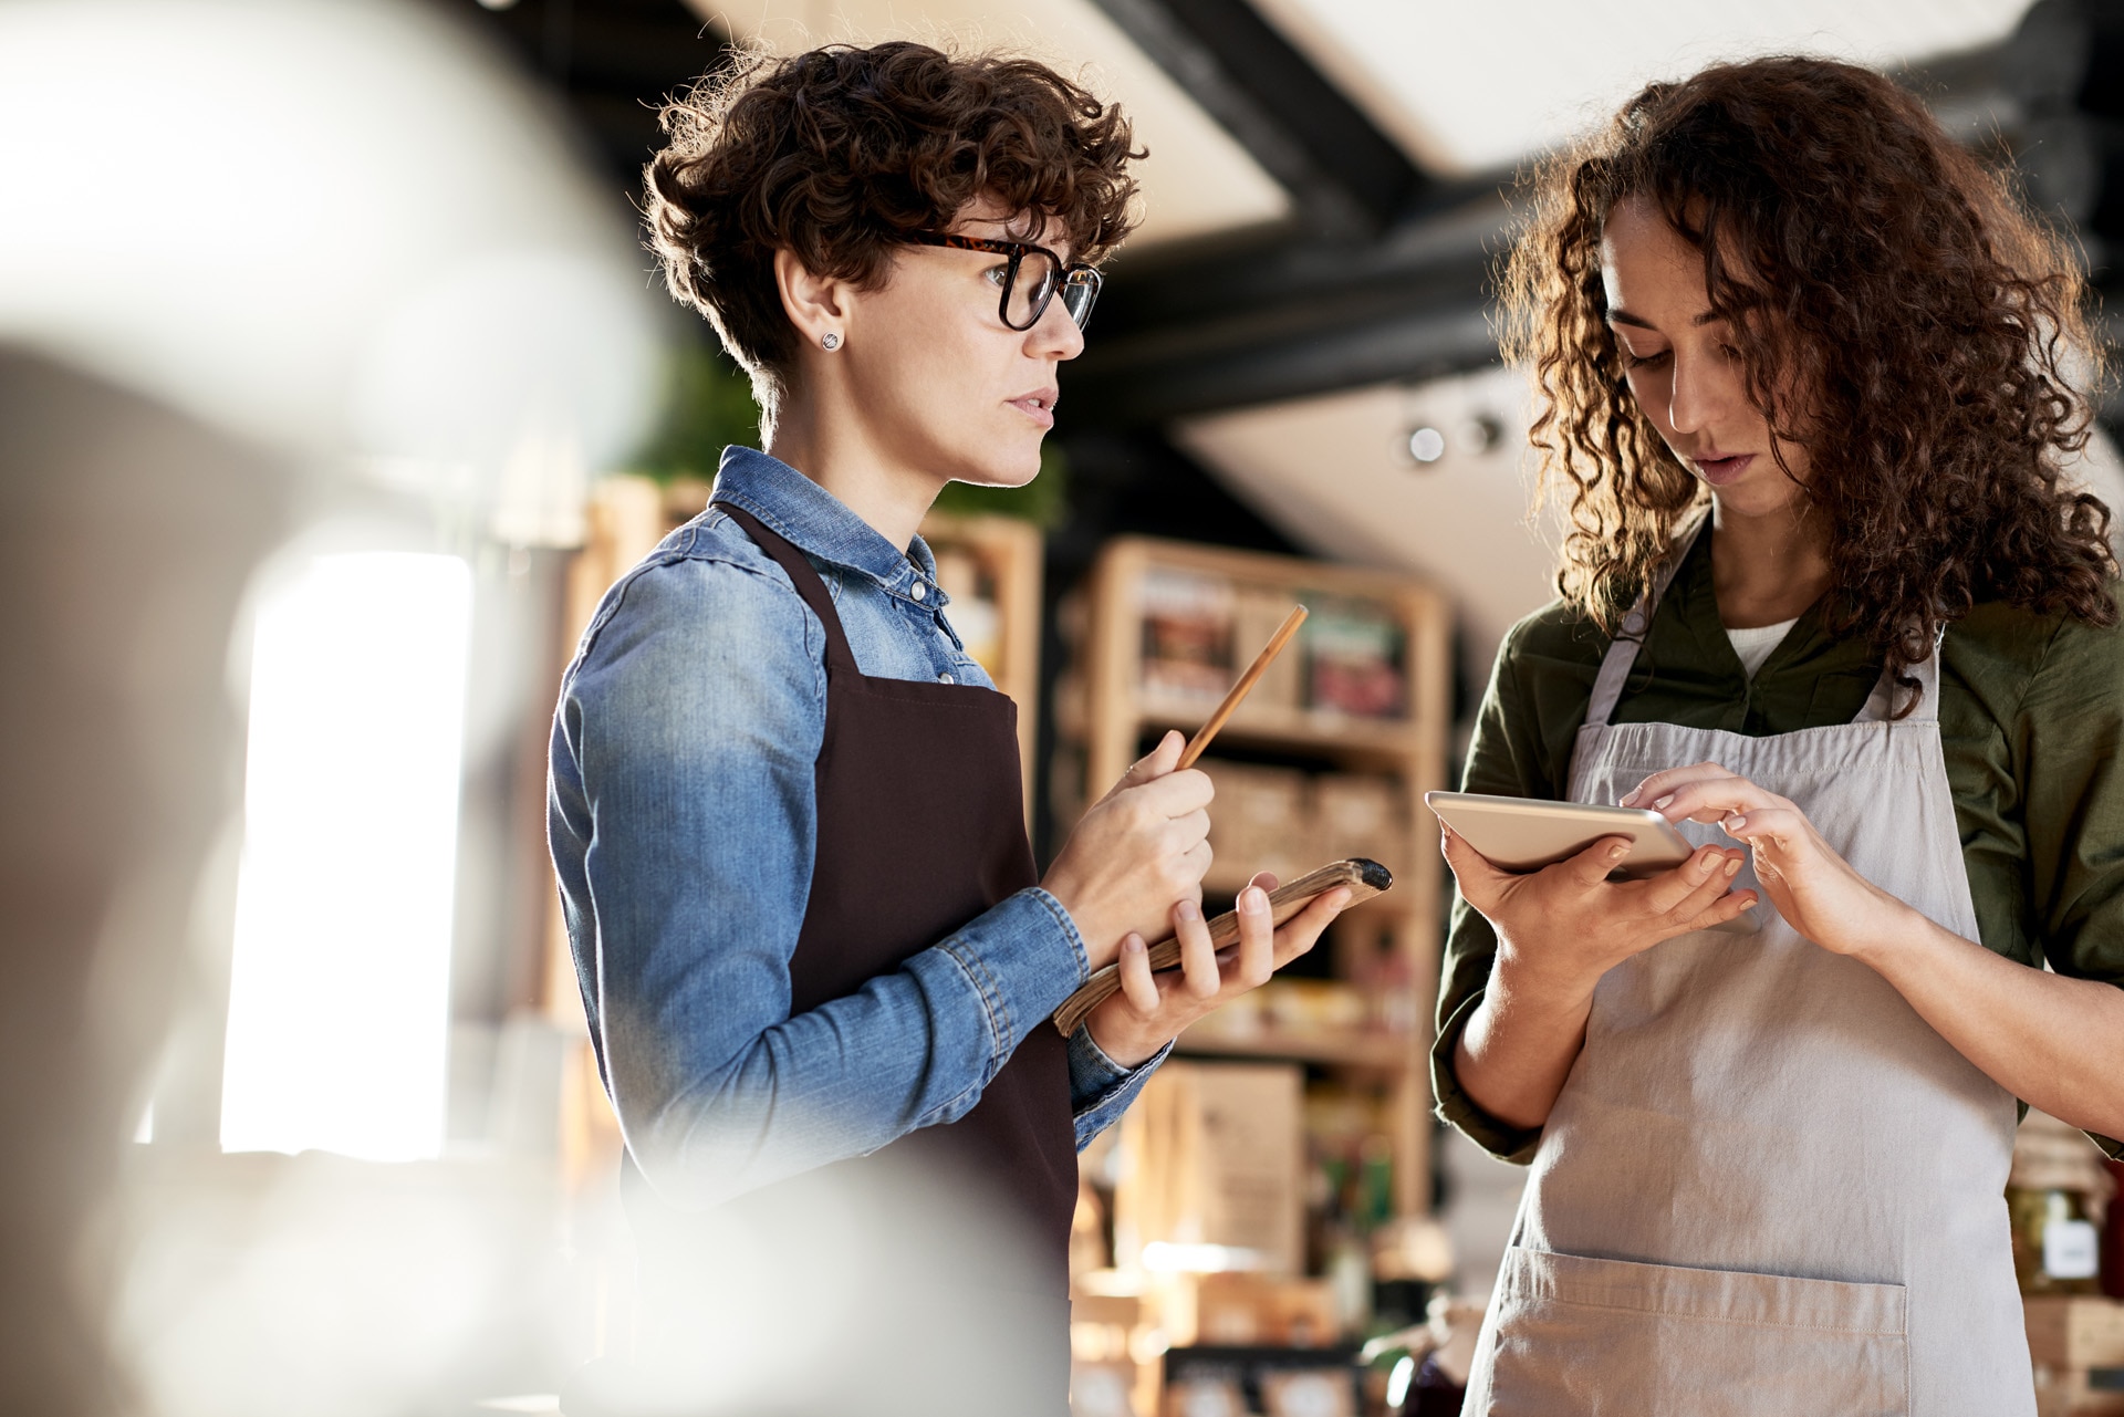
[[[1746,678],[1718,620],[1710,544],[1699,537],[1676,571],[1614,722],[1765,737],[1856,718],[1880,659],[1865,642],[1831,637],[1818,608]],[[1514,625],[1461,790],[1568,797],[1572,744],[1606,652],[1608,635],[1561,601]],[[1973,608],[1939,650],[1939,735],[1984,947],[2124,988],[2124,631],[2005,603]],[[1489,920],[1455,894],[1432,1086],[1446,1122],[1527,1162],[1540,1130],[1489,1117],[1453,1075],[1495,952]],[[2096,1143],[2124,1156],[2116,1141]]]

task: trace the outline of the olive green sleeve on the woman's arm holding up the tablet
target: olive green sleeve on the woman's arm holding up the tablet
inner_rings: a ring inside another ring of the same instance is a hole
[[[1517,661],[1525,625],[1514,627],[1497,650],[1497,663],[1476,716],[1474,741],[1468,746],[1468,767],[1461,771],[1463,792],[1497,797],[1559,797],[1557,784],[1542,782],[1536,769],[1542,752],[1527,731],[1531,705],[1519,690]],[[1489,964],[1497,954],[1497,935],[1459,890],[1453,892],[1453,920],[1446,931],[1444,975],[1438,984],[1438,1037],[1432,1043],[1432,1094],[1438,1115],[1466,1132],[1478,1147],[1508,1162],[1527,1164],[1540,1143],[1540,1128],[1527,1130],[1497,1122],[1461,1090],[1453,1075],[1453,1049],[1468,1018],[1489,988]]]

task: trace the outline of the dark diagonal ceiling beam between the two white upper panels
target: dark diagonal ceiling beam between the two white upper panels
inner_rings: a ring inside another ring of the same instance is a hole
[[[1247,0],[1094,0],[1291,193],[1315,236],[1372,236],[1423,172]]]

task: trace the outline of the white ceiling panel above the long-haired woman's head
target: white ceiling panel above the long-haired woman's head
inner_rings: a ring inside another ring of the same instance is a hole
[[[2005,38],[2028,0],[1253,0],[1432,172],[1502,168],[1652,79],[1780,51],[1895,66]]]

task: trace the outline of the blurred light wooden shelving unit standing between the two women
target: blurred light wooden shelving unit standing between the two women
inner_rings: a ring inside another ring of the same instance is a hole
[[[1209,586],[1200,605],[1185,586],[1175,588],[1189,576]],[[1328,1015],[1264,1009],[1257,1028],[1223,1018],[1183,1035],[1179,1052],[1353,1073],[1347,1081],[1378,1098],[1378,1130],[1391,1141],[1393,1211],[1423,1215],[1429,1001],[1444,916],[1444,871],[1429,856],[1436,826],[1423,792],[1446,786],[1453,618],[1444,597],[1398,571],[1149,537],[1109,542],[1081,599],[1073,595],[1058,622],[1073,659],[1056,690],[1056,824],[1073,826],[1143,754],[1147,733],[1200,729],[1238,673],[1236,661],[1266,642],[1294,601],[1319,618],[1289,652],[1296,659],[1270,669],[1204,758],[1223,803],[1211,807],[1221,869],[1204,886],[1230,899],[1245,871],[1302,873],[1338,856],[1391,856],[1389,869],[1406,863],[1391,892],[1330,926],[1323,958],[1342,984],[1395,979],[1393,988],[1408,992],[1408,1030],[1336,1030],[1317,1026]],[[1147,631],[1151,616],[1155,635]],[[1323,650],[1325,663],[1340,667],[1317,682],[1311,656]],[[1226,661],[1234,661],[1228,673]],[[1393,695],[1376,673],[1383,663],[1400,678]],[[1308,699],[1395,703],[1402,712],[1374,718],[1302,707]],[[1402,1013],[1385,1018],[1402,1022]]]

